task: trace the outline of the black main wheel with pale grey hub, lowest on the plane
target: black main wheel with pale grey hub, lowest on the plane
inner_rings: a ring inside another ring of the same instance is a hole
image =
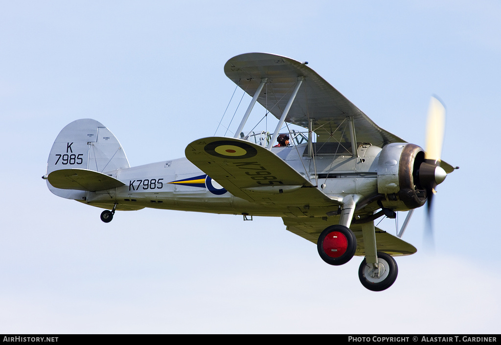
[[[398,275],[398,266],[395,259],[386,253],[377,253],[379,272],[364,258],[358,269],[360,282],[371,291],[383,291],[390,287]]]

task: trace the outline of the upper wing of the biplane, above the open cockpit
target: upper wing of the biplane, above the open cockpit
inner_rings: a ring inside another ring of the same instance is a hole
[[[315,132],[334,133],[338,141],[349,142],[349,131],[338,130],[347,117],[353,117],[358,142],[376,146],[385,143],[404,143],[401,138],[378,127],[360,109],[333,88],[305,64],[286,57],[248,53],[237,55],[226,62],[224,73],[250,96],[258,89],[263,78],[268,78],[267,91],[262,92],[258,102],[280,119],[298,77],[305,77],[286,121],[308,127],[309,118],[315,119]],[[304,88],[304,90],[302,90]],[[285,97],[284,97],[285,96]],[[323,141],[323,140],[322,140]]]

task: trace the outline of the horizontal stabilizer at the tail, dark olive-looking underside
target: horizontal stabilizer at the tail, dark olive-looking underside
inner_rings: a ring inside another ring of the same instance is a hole
[[[106,174],[87,169],[61,169],[51,172],[49,183],[60,189],[95,192],[125,186],[125,183]]]

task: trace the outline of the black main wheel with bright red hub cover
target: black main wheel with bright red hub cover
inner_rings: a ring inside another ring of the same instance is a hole
[[[327,227],[318,238],[320,257],[330,265],[339,266],[351,260],[357,250],[357,238],[344,225]]]

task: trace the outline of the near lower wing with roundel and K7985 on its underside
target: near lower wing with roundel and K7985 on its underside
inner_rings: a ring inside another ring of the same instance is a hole
[[[195,140],[185,149],[186,158],[234,196],[287,206],[339,205],[264,147],[223,137]],[[291,194],[284,197],[284,194]]]

